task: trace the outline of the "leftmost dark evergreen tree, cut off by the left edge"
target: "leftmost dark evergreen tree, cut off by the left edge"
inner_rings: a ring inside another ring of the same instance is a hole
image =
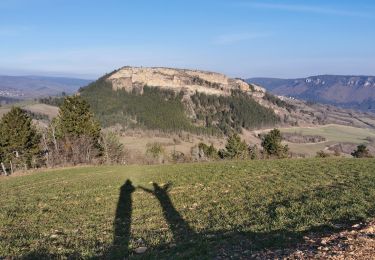
[[[0,122],[0,160],[13,167],[38,166],[40,138],[28,114],[13,107]]]

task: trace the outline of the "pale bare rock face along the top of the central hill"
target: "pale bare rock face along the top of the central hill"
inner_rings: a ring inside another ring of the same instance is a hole
[[[143,86],[159,87],[193,94],[196,91],[209,95],[230,95],[231,90],[249,92],[249,85],[239,79],[207,71],[171,69],[171,68],[143,68],[124,67],[109,78],[114,90],[133,89],[140,93]]]

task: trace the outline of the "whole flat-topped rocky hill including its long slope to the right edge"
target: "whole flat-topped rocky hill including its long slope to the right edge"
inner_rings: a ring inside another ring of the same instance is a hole
[[[274,126],[375,128],[375,115],[276,97],[215,72],[123,67],[80,90],[104,127],[227,135]]]

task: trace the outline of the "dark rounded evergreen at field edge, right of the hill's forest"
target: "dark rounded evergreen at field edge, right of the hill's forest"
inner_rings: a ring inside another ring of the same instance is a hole
[[[288,153],[288,146],[282,145],[282,135],[279,129],[273,129],[263,137],[262,147],[269,156],[284,158]]]

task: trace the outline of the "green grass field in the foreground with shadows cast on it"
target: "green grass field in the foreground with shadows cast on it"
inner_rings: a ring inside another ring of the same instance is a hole
[[[304,159],[0,178],[0,258],[192,259],[293,246],[374,217],[374,170],[374,159]],[[141,245],[147,252],[134,254]]]

